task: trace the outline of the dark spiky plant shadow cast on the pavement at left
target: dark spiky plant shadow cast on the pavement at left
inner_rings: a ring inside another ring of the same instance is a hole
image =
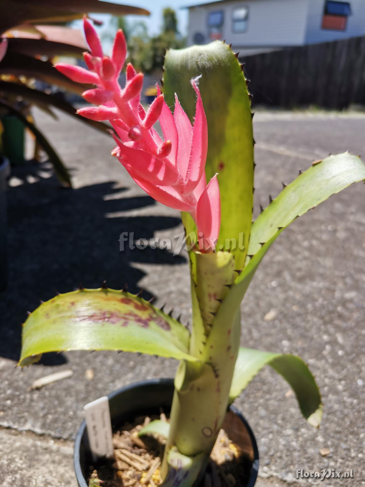
[[[185,262],[180,255],[150,247],[130,250],[127,246],[120,252],[122,232],[134,232],[134,240],[148,240],[154,231],[181,223],[179,218],[168,216],[110,218],[112,212],[155,205],[149,196],[124,197],[128,188],[115,188],[113,182],[65,189],[51,173],[51,177],[29,184],[29,176],[32,181],[39,169],[41,165],[13,169],[12,176],[23,184],[10,187],[7,198],[9,271],[7,290],[0,294],[0,356],[12,360],[20,355],[21,323],[39,300],[51,299],[56,291],[77,289],[79,283],[95,288],[103,281],[114,289],[128,283],[128,291],[135,293],[145,273],[132,267],[132,262]],[[105,199],[115,193],[122,194],[118,199]],[[146,290],[142,296],[152,297]],[[41,359],[45,365],[65,361],[56,353]]]

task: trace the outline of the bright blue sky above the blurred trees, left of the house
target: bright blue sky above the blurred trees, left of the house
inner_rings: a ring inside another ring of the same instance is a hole
[[[136,7],[143,7],[151,12],[149,17],[144,16],[127,16],[127,19],[130,22],[135,20],[143,20],[146,22],[148,32],[150,35],[158,34],[160,32],[160,27],[162,25],[162,11],[165,7],[171,7],[176,10],[176,14],[178,17],[178,26],[179,31],[182,36],[187,34],[187,20],[188,20],[188,11],[186,9],[182,9],[181,7],[186,5],[194,5],[194,3],[209,3],[212,0],[109,0],[113,3],[123,3],[126,5],[133,5]],[[104,25],[100,28],[102,32],[104,29],[107,29],[110,16],[104,14],[91,14],[91,17],[94,19],[102,20]],[[75,22],[75,26],[79,22]],[[81,25],[81,23],[80,23]]]

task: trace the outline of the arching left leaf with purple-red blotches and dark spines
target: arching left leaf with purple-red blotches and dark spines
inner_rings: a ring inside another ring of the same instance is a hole
[[[188,361],[189,332],[148,301],[114,289],[81,289],[55,296],[23,326],[19,365],[66,350],[123,350]]]

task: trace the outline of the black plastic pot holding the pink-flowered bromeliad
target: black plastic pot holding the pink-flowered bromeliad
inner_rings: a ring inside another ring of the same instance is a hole
[[[131,421],[137,416],[160,414],[160,408],[164,412],[169,412],[173,393],[173,379],[155,379],[137,382],[109,394],[113,431],[118,430],[126,421]],[[253,487],[258,470],[258,450],[254,433],[234,406],[231,406],[227,412],[223,426],[226,431],[229,429],[229,437],[237,445],[238,450],[245,455],[246,468],[250,469],[247,483],[239,487]],[[73,462],[78,486],[88,487],[85,476],[92,464],[92,457],[85,421],[81,423],[76,435]]]

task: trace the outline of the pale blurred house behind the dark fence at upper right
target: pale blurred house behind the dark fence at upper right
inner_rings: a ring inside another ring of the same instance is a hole
[[[241,55],[365,35],[365,0],[218,0],[187,8],[189,46],[225,39]]]

